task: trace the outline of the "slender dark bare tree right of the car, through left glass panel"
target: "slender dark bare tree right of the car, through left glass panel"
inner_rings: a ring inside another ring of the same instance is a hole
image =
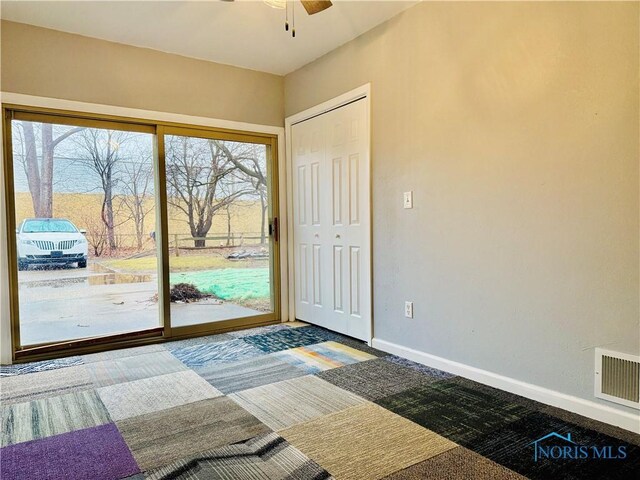
[[[103,193],[101,219],[107,230],[107,245],[110,251],[118,248],[115,234],[114,198],[119,182],[120,149],[130,139],[130,133],[117,130],[87,129],[76,137],[81,161],[86,162],[100,178]]]

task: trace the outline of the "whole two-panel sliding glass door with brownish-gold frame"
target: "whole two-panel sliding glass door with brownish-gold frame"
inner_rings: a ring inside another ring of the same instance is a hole
[[[275,138],[4,112],[16,356],[279,319]]]

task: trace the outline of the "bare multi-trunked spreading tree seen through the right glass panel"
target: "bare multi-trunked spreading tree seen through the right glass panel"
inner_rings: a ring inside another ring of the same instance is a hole
[[[214,215],[251,190],[234,186],[236,152],[216,140],[167,137],[169,203],[184,213],[196,247],[204,247]]]

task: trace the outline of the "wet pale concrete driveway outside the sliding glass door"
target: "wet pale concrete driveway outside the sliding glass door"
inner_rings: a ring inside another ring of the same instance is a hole
[[[130,332],[159,326],[156,275],[109,273],[100,265],[19,272],[22,345]],[[262,312],[232,303],[172,304],[173,326]]]

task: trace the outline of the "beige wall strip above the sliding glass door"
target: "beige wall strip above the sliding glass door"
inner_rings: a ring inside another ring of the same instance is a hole
[[[7,21],[1,48],[6,92],[283,125],[278,75]]]

